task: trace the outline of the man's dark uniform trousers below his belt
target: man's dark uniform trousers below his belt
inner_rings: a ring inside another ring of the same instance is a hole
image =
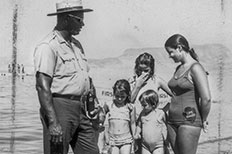
[[[69,145],[74,154],[99,154],[98,133],[86,117],[84,104],[80,100],[60,97],[53,97],[53,103],[63,131],[63,154],[68,153]],[[42,108],[40,114],[44,131],[44,154],[50,154],[48,120]]]

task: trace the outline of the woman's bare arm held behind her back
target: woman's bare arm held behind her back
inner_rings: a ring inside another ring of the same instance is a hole
[[[205,122],[207,121],[211,107],[208,78],[204,68],[200,64],[196,64],[192,67],[191,77],[200,97],[200,114],[203,122]]]

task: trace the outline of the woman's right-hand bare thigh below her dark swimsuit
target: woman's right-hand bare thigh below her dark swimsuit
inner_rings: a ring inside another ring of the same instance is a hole
[[[179,154],[196,154],[201,128],[180,125],[177,133]]]

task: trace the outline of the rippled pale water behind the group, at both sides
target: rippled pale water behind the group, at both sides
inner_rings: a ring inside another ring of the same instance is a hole
[[[232,153],[229,100],[212,104],[209,132],[201,135],[199,154]],[[42,125],[34,77],[18,77],[13,81],[11,76],[0,76],[0,103],[0,153],[42,154]]]

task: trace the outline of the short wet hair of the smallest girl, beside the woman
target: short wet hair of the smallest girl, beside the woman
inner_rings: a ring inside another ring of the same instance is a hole
[[[147,90],[140,95],[139,101],[146,102],[156,108],[159,103],[159,95],[154,90]]]

